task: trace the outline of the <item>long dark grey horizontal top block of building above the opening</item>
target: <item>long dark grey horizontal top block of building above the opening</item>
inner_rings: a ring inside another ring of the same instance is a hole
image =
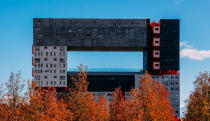
[[[33,19],[34,46],[71,50],[143,50],[149,19]]]

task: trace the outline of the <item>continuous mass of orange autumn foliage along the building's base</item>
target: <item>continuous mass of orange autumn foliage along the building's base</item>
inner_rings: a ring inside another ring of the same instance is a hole
[[[105,96],[95,99],[88,92],[87,68],[83,70],[82,65],[79,68],[78,76],[72,77],[69,95],[59,100],[55,88],[36,88],[33,81],[28,83],[28,90],[23,97],[18,94],[15,100],[9,102],[0,98],[0,120],[174,120],[169,93],[161,83],[152,81],[148,73],[141,78],[138,89],[130,91],[129,98],[125,98],[120,89],[116,89],[112,101],[107,102]],[[17,89],[20,86],[15,85]]]

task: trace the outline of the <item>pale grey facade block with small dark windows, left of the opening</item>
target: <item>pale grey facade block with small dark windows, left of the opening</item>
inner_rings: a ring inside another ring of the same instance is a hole
[[[37,86],[67,87],[66,46],[33,46],[32,61]]]

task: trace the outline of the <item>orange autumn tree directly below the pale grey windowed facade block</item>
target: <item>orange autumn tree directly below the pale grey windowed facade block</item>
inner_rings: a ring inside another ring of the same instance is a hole
[[[57,100],[55,88],[36,88],[35,82],[29,83],[28,103],[21,106],[21,117],[24,120],[72,120],[72,113],[67,110],[67,104]]]

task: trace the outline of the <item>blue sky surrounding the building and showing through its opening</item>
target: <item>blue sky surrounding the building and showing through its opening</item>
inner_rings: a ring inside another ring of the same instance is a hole
[[[180,19],[181,107],[199,72],[210,71],[210,0],[0,0],[0,82],[31,79],[32,18]],[[69,67],[142,68],[140,52],[69,52]]]

